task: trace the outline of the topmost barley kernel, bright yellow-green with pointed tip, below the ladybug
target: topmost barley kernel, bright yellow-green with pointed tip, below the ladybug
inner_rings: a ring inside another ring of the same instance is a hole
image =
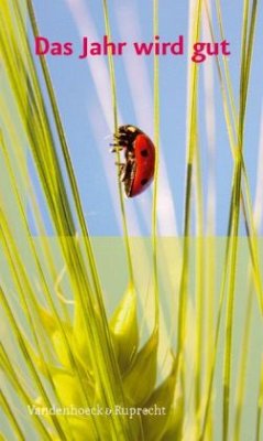
[[[125,372],[138,352],[138,301],[135,289],[129,284],[110,321],[112,341],[120,370]]]

